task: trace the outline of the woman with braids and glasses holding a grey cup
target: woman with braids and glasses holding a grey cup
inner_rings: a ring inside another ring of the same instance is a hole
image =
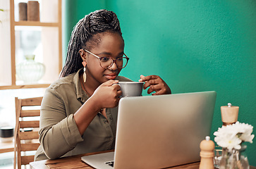
[[[85,15],[71,35],[61,78],[47,88],[41,107],[35,160],[114,149],[118,76],[128,63],[116,14],[99,10]],[[157,75],[140,76],[148,93],[171,94]]]

